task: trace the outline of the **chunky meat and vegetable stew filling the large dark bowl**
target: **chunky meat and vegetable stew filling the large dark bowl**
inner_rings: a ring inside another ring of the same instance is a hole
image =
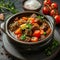
[[[43,16],[36,14],[29,17],[16,17],[10,23],[9,30],[17,40],[24,42],[38,42],[51,33],[48,21]]]

